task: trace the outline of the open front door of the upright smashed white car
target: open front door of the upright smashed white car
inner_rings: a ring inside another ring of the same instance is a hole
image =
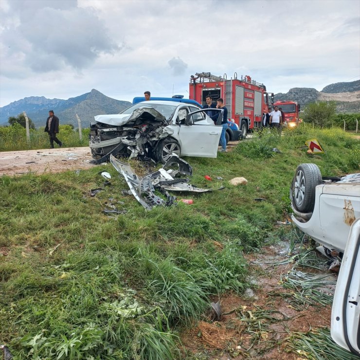
[[[193,109],[179,128],[181,155],[216,158],[222,126],[215,126],[205,110]]]

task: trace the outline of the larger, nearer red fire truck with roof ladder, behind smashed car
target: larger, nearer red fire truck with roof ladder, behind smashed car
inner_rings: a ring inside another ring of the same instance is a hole
[[[189,99],[205,105],[208,95],[214,102],[219,97],[224,99],[228,118],[240,127],[243,138],[248,131],[262,126],[262,114],[268,112],[274,99],[274,94],[268,93],[264,84],[252,80],[249,75],[238,79],[235,72],[230,80],[226,74],[222,77],[210,72],[191,75]]]

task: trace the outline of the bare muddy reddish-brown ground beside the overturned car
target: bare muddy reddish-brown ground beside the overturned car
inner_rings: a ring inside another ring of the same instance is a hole
[[[214,314],[209,313],[192,329],[180,334],[181,342],[194,359],[306,359],[290,348],[288,340],[296,332],[330,328],[331,306],[296,309],[281,296],[291,292],[282,286],[280,279],[294,264],[273,264],[288,259],[288,247],[288,242],[281,241],[264,247],[259,253],[246,255],[252,289],[248,288],[243,296],[228,293],[212,299],[220,301],[224,313],[231,313],[223,315],[218,321],[213,321]],[[318,256],[325,264],[326,258]],[[329,274],[329,280],[337,279],[337,274],[326,270],[326,267],[322,271],[298,270],[315,272],[319,276]],[[324,288],[329,294],[334,290],[334,285]]]

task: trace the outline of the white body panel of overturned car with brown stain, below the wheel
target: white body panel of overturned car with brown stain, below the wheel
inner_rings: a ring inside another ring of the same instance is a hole
[[[352,222],[360,217],[360,183],[318,185],[315,207],[306,222],[291,216],[294,224],[305,234],[328,249],[345,250]],[[344,236],[345,234],[345,236]]]

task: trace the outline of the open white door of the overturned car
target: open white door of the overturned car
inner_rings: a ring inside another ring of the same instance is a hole
[[[350,228],[331,311],[331,337],[360,356],[360,218]]]

